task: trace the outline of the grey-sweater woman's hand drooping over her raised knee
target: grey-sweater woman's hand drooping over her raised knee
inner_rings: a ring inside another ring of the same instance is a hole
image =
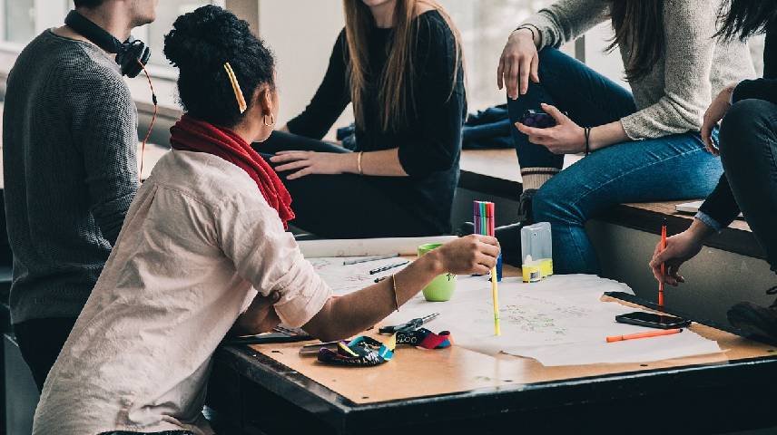
[[[497,67],[497,87],[507,86],[507,97],[516,100],[529,89],[529,78],[539,82],[539,54],[536,51],[534,34],[529,29],[517,29],[510,34],[502,50]]]

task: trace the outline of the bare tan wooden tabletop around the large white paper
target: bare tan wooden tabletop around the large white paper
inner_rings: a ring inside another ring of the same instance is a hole
[[[504,275],[519,276],[520,269],[506,265]],[[613,298],[605,297],[604,300],[642,308]],[[378,335],[377,329],[377,327],[373,328],[365,334],[379,341],[385,341],[387,337]],[[724,352],[658,362],[546,367],[529,358],[505,353],[477,353],[456,345],[434,351],[399,346],[394,359],[390,362],[371,368],[353,368],[322,364],[315,356],[300,356],[299,350],[303,343],[260,344],[253,345],[251,348],[357,404],[408,400],[483,388],[501,388],[625,372],[645,372],[698,364],[721,364],[769,357],[774,352],[774,347],[771,345],[753,342],[703,324],[694,323],[690,329],[716,341]],[[399,379],[404,382],[398,382]]]

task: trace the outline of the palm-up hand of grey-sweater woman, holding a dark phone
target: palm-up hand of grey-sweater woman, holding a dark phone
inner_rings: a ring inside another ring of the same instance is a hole
[[[556,126],[547,129],[528,127],[516,122],[516,129],[526,134],[531,143],[542,145],[554,154],[575,154],[585,151],[585,131],[555,106],[542,104],[542,109],[556,120]]]

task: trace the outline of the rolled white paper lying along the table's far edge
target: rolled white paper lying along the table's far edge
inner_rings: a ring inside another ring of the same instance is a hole
[[[299,242],[305,258],[329,256],[415,256],[418,247],[428,243],[447,243],[455,236],[358,238],[349,240],[305,240]]]

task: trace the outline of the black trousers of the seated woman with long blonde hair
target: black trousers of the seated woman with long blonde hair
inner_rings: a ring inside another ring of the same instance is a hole
[[[273,167],[278,165],[272,164],[270,157],[281,150],[351,152],[322,140],[282,131],[274,131],[270,139],[252,146]],[[290,224],[316,236],[416,237],[438,232],[390,198],[372,182],[374,177],[339,174],[286,179],[291,173],[294,171],[278,173],[289,189],[291,208],[297,216]]]

